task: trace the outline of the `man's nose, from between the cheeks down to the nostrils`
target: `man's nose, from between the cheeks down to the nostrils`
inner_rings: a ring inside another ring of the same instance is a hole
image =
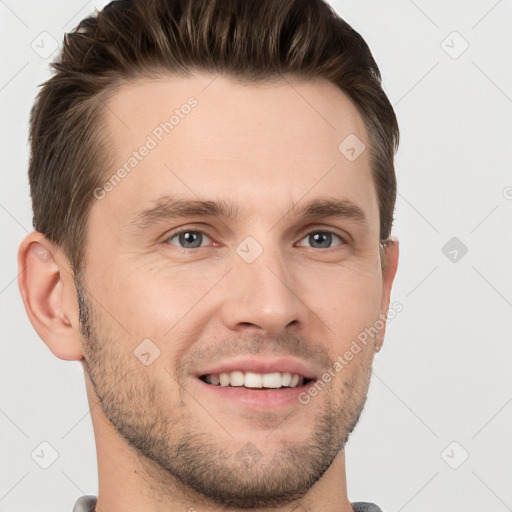
[[[224,324],[236,332],[276,337],[285,329],[307,323],[308,307],[300,282],[288,270],[278,251],[263,254],[252,263],[237,256],[229,273],[227,299],[221,306]]]

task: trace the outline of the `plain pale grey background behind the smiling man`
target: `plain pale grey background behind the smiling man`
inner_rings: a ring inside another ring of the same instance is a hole
[[[0,0],[0,512],[71,511],[97,493],[81,366],[33,330],[16,251],[31,230],[28,113],[51,60],[34,47],[105,4]],[[349,498],[385,512],[512,510],[512,2],[332,4],[372,49],[402,134],[403,311],[347,445]],[[31,456],[51,461],[42,442],[58,453],[48,469]]]

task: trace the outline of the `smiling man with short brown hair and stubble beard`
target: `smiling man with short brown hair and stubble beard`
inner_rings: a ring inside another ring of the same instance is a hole
[[[398,263],[365,42],[321,0],[119,0],[54,67],[19,285],[84,368],[74,511],[379,511],[344,458]]]

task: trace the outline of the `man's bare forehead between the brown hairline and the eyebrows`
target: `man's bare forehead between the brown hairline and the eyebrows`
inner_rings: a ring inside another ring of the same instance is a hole
[[[364,122],[325,80],[141,79],[116,91],[104,122],[114,166],[101,207],[124,218],[165,194],[236,197],[256,211],[262,198],[270,206],[330,193],[378,216],[369,151],[351,160],[340,150],[347,137],[369,148]]]

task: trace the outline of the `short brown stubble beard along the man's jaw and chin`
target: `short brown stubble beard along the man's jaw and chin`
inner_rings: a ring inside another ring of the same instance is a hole
[[[320,393],[325,407],[316,414],[305,440],[289,439],[274,453],[265,453],[250,439],[241,445],[221,441],[208,425],[203,428],[190,408],[187,411],[187,404],[197,406],[191,397],[186,403],[182,398],[181,404],[168,405],[170,393],[150,381],[151,374],[144,372],[146,368],[130,350],[126,355],[112,350],[116,344],[100,332],[101,322],[79,278],[75,284],[84,369],[106,418],[147,460],[140,469],[152,480],[153,488],[160,487],[162,498],[169,494],[172,500],[169,482],[173,482],[223,508],[282,507],[303,498],[345,448],[366,403],[371,361],[361,365],[349,380],[338,375],[342,387],[338,384]],[[310,414],[307,406],[302,407],[303,414]]]

